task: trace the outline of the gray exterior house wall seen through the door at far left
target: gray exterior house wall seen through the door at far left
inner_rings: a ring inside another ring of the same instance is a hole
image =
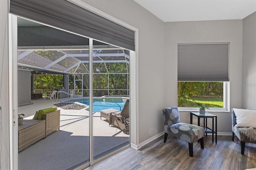
[[[30,70],[18,70],[18,106],[31,102]]]

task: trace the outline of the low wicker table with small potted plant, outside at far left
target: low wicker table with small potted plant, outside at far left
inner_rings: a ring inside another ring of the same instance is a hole
[[[23,124],[18,125],[19,151],[42,138],[45,138],[45,120],[23,120]]]

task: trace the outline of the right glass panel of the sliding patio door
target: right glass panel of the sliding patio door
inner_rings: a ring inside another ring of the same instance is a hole
[[[93,160],[97,160],[130,144],[130,63],[128,50],[110,44],[94,40],[92,52]]]

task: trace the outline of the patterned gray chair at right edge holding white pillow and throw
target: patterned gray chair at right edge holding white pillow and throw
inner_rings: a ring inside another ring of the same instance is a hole
[[[236,136],[238,137],[238,139],[240,140],[240,144],[241,144],[241,154],[244,154],[244,149],[245,149],[245,142],[249,142],[249,143],[256,143],[256,141],[250,141],[250,139],[245,136],[243,133],[241,133],[241,129],[240,127],[235,127],[235,125],[237,124],[237,117],[235,112],[232,109],[232,141],[234,141],[234,135],[236,134]]]

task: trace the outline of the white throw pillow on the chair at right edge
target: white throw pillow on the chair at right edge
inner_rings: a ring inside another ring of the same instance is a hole
[[[233,108],[237,117],[235,127],[254,127],[256,128],[256,110],[246,110]]]

